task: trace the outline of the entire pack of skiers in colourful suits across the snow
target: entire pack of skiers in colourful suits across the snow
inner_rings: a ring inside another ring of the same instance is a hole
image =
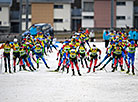
[[[4,62],[5,62],[5,72],[11,71],[10,64],[10,52],[13,49],[13,71],[17,72],[16,65],[19,64],[19,71],[27,70],[26,66],[29,67],[30,71],[36,70],[32,63],[32,59],[36,62],[37,68],[39,68],[39,60],[40,58],[43,60],[46,68],[50,68],[45,60],[45,56],[47,56],[47,52],[52,52],[52,47],[54,47],[57,53],[58,67],[55,72],[60,70],[67,70],[69,73],[69,68],[72,69],[72,75],[75,75],[74,66],[77,68],[78,75],[81,76],[80,66],[81,63],[82,68],[84,68],[84,62],[87,68],[87,73],[90,73],[91,69],[93,72],[96,71],[96,68],[101,66],[101,64],[108,59],[108,61],[100,68],[100,70],[104,69],[106,65],[112,61],[112,72],[117,70],[118,64],[120,65],[121,71],[125,71],[123,68],[123,61],[127,66],[127,72],[130,72],[130,66],[132,66],[132,74],[135,75],[135,51],[137,44],[133,40],[129,40],[129,34],[125,31],[106,31],[104,32],[104,36],[109,37],[109,45],[106,44],[106,55],[104,59],[97,65],[98,59],[101,59],[101,50],[96,47],[96,45],[90,46],[89,44],[89,32],[81,31],[76,32],[72,35],[69,40],[63,42],[62,47],[57,50],[56,46],[53,44],[53,37],[49,35],[49,33],[44,34],[43,32],[38,32],[37,35],[31,36],[29,33],[23,36],[22,41],[19,43],[17,39],[11,43],[7,41],[2,44],[0,49],[4,49]],[[87,46],[88,47],[87,47]],[[36,58],[34,57],[36,56]],[[18,62],[17,58],[19,59]],[[8,68],[7,68],[8,61]],[[92,64],[94,63],[94,67],[92,68]]]

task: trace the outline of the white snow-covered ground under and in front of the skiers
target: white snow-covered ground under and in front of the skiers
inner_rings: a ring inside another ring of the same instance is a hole
[[[95,44],[102,50],[103,59],[104,43]],[[56,53],[54,50],[47,57],[51,69],[57,68]],[[138,49],[135,60],[138,69],[137,54]],[[106,67],[108,72],[103,70],[89,74],[86,73],[87,68],[80,66],[82,76],[76,72],[76,76],[72,77],[71,70],[69,74],[48,72],[41,61],[40,69],[36,72],[0,74],[0,102],[138,102],[138,72],[135,76],[119,70],[111,73],[110,66],[111,63]]]

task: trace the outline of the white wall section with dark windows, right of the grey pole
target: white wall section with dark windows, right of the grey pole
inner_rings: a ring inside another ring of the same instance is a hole
[[[134,0],[117,0],[116,28],[134,27]]]

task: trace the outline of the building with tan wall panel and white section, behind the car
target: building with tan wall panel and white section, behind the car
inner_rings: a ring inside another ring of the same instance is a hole
[[[71,31],[71,3],[73,1],[29,0],[29,26],[35,23],[50,23],[55,31]],[[25,11],[25,0],[23,0],[22,30],[26,28]]]

